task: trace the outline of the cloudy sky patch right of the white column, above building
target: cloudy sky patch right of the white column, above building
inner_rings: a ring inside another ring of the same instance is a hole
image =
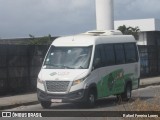
[[[160,0],[115,0],[116,19],[160,18]]]

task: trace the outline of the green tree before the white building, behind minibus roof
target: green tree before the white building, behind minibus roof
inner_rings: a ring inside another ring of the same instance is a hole
[[[119,26],[118,29],[121,31],[124,35],[133,35],[136,40],[138,40],[138,33],[140,32],[139,27],[126,27],[125,25]]]

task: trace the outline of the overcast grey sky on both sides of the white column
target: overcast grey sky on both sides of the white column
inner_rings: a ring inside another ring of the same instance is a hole
[[[115,20],[158,18],[160,0],[114,0]],[[0,0],[0,38],[96,29],[95,0]]]

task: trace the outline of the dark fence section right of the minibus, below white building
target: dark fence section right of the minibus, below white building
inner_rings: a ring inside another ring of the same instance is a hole
[[[139,47],[141,78],[160,75],[160,46]]]

